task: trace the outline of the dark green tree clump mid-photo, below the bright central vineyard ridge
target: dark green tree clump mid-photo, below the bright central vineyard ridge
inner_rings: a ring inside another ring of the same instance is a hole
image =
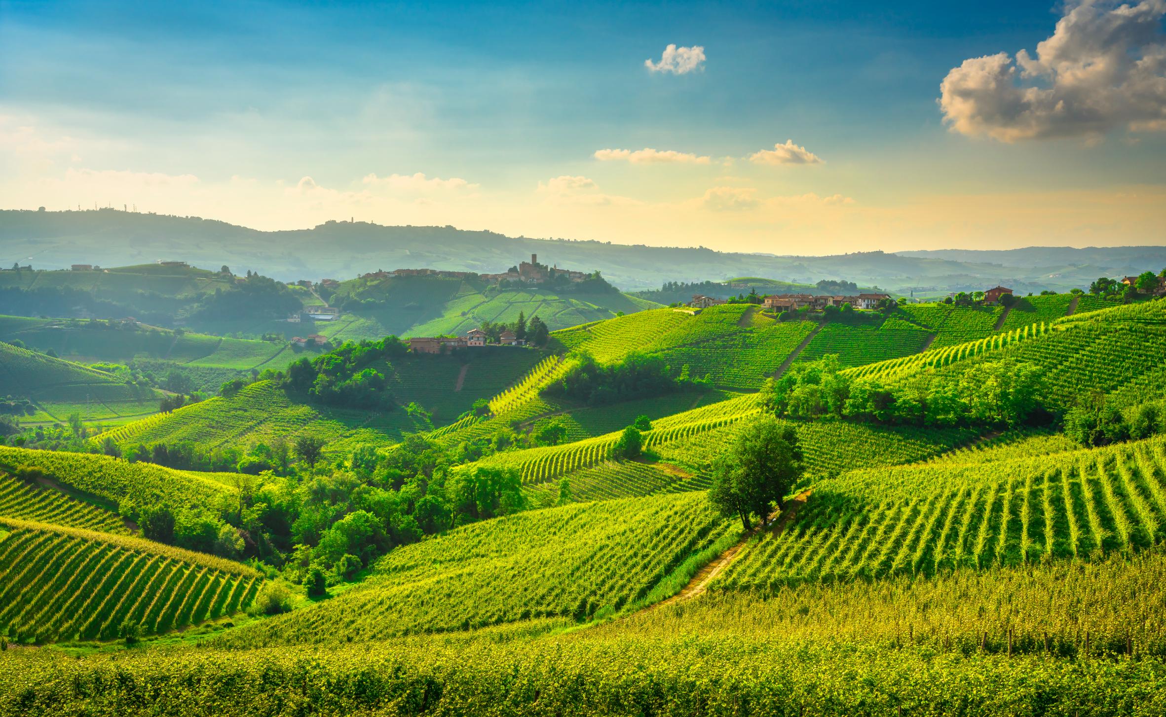
[[[600,405],[633,398],[660,396],[709,385],[708,379],[689,376],[688,364],[679,370],[660,356],[628,354],[623,361],[600,364],[590,354],[574,353],[562,378],[545,391],[585,403]]]

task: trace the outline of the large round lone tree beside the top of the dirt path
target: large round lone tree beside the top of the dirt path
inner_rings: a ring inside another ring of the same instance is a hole
[[[781,510],[781,498],[801,475],[798,435],[792,427],[766,417],[742,431],[717,457],[709,501],[722,516],[738,516],[746,531],[752,527],[751,516],[758,516],[765,526],[773,505]]]

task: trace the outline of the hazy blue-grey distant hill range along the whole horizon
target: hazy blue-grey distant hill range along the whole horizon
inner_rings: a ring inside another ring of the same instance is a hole
[[[295,281],[339,279],[398,268],[499,272],[532,253],[559,267],[598,270],[626,291],[655,290],[665,282],[757,276],[801,284],[847,279],[901,294],[915,290],[916,296],[982,290],[995,284],[1018,293],[1039,293],[1044,289],[1084,287],[1103,275],[1157,272],[1166,267],[1166,247],[777,256],[512,237],[449,226],[384,227],[330,221],[311,229],[259,232],[199,218],[115,210],[0,211],[0,267],[19,262],[58,269],[80,262],[119,265],[169,258],[203,267],[227,264],[236,272],[250,269]]]

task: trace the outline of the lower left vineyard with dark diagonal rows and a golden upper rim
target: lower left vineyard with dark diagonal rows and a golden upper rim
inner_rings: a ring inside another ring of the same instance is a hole
[[[226,560],[148,540],[0,518],[0,627],[14,643],[110,640],[229,615],[260,576]]]

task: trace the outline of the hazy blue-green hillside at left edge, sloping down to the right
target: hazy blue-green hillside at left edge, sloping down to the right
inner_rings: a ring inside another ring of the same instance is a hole
[[[159,392],[112,374],[0,342],[0,396],[27,399],[16,418],[30,423],[125,423],[157,411]]]

